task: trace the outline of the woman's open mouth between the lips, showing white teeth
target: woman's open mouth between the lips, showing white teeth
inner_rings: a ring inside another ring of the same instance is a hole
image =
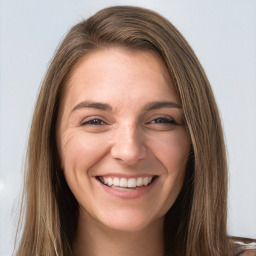
[[[103,185],[117,190],[130,191],[141,187],[149,186],[157,176],[137,177],[137,178],[118,178],[118,177],[96,177]]]

